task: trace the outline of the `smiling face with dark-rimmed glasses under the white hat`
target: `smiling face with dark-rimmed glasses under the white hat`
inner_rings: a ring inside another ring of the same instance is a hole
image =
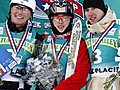
[[[16,27],[24,26],[30,16],[31,11],[26,6],[16,4],[11,7],[11,21]]]

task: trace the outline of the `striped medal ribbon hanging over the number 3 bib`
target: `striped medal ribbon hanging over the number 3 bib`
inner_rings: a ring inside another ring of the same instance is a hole
[[[108,34],[108,32],[112,29],[112,27],[115,25],[115,22],[112,21],[110,23],[110,25],[105,29],[105,31],[100,35],[100,37],[98,38],[98,40],[96,41],[94,48],[92,47],[93,52],[97,49],[97,47],[99,46],[100,42],[103,40],[103,38]],[[92,45],[92,36],[93,34],[90,32],[90,42]]]

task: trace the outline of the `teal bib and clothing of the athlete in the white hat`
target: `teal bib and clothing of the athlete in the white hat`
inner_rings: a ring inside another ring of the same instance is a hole
[[[1,79],[3,85],[0,86],[0,90],[17,90],[19,87],[19,77],[21,76],[21,70],[25,68],[26,60],[33,56],[35,50],[35,30],[30,32],[30,27],[25,28],[21,32],[12,32],[6,23],[0,24],[0,48],[6,48],[11,56],[15,57],[15,60],[19,62],[11,71],[5,74]],[[13,49],[13,48],[16,48]],[[29,90],[30,86],[25,85],[25,90]]]

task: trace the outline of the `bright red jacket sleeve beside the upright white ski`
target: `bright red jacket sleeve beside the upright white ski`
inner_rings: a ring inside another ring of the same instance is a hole
[[[74,74],[60,82],[54,90],[80,90],[86,85],[86,79],[90,70],[89,56],[85,41],[81,39],[77,63]]]

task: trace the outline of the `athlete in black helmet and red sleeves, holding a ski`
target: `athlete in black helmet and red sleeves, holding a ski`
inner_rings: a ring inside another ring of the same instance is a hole
[[[64,72],[63,80],[54,90],[80,90],[86,85],[90,64],[87,47],[83,38],[81,38],[80,45],[78,46],[79,50],[75,60],[76,66],[74,66],[74,63],[71,63],[73,64],[74,71],[70,76],[66,76],[73,16],[73,6],[65,0],[55,1],[49,7],[48,17],[52,27],[52,34],[48,34],[43,39],[43,49],[46,54],[51,52],[54,55],[55,60],[60,62]],[[77,47],[73,46],[72,48]],[[74,52],[74,49],[72,50]],[[70,67],[69,70],[73,68]]]

